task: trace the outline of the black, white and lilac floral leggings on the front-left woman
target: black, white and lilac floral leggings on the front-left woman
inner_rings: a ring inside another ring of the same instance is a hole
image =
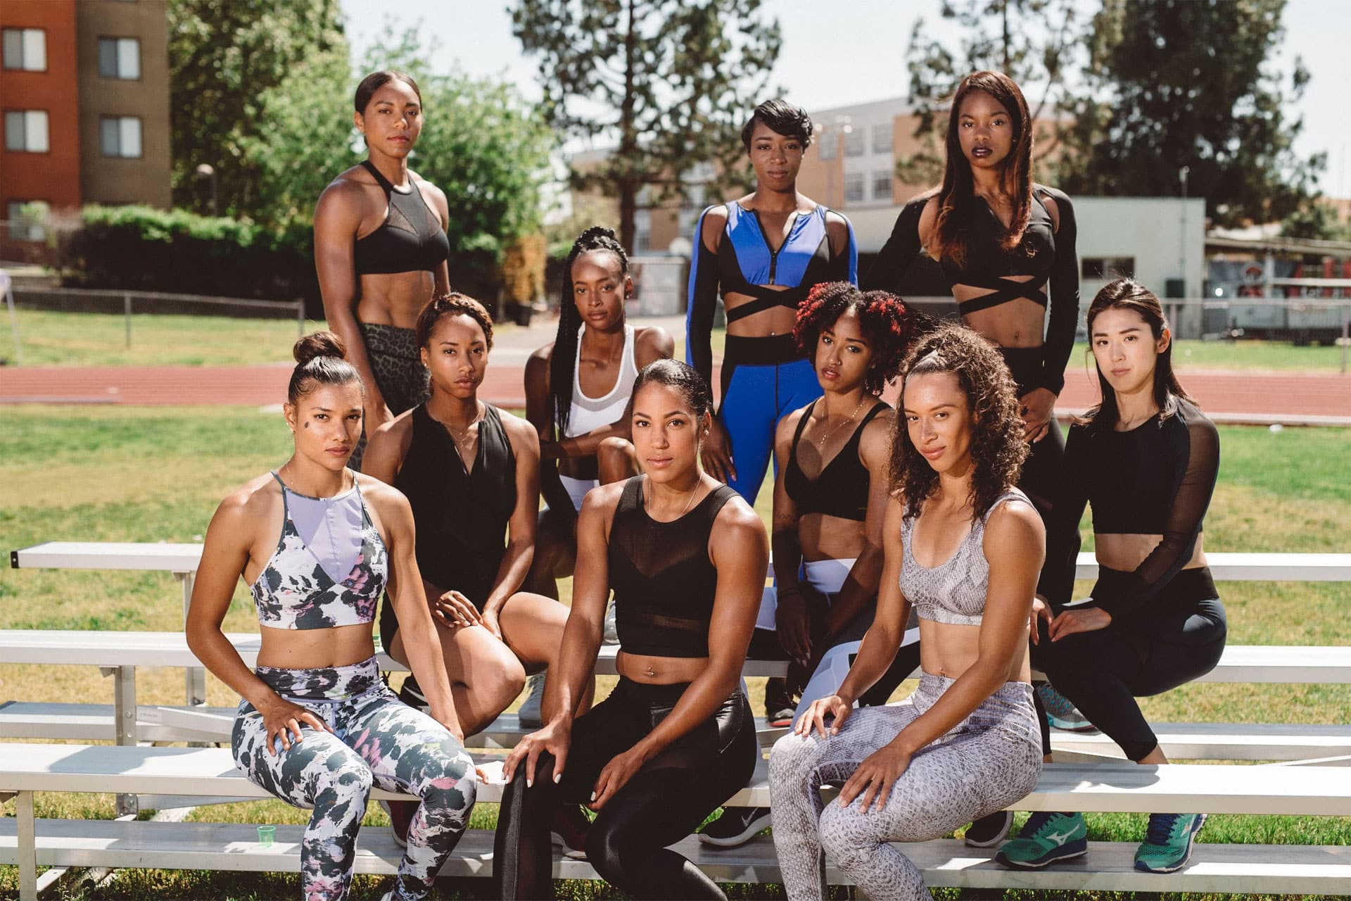
[[[374,657],[351,666],[255,671],[332,728],[301,725],[304,742],[292,740],[289,751],[277,742],[280,754],[273,754],[262,715],[240,701],[230,742],[235,766],[250,782],[315,812],[300,844],[305,901],[346,897],[372,785],[422,798],[394,898],[426,898],[474,806],[474,763],[465,748],[436,720],[394,697],[380,681]]]

